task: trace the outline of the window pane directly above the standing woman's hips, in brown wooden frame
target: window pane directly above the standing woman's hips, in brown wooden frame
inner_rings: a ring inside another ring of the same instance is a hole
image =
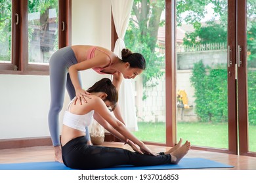
[[[29,63],[49,63],[58,49],[58,0],[28,2]]]

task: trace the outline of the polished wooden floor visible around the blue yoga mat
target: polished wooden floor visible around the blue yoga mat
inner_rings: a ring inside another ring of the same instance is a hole
[[[129,148],[120,142],[104,142],[104,146],[115,146]],[[164,152],[168,147],[148,145],[154,152]],[[236,156],[218,152],[206,152],[201,150],[190,150],[187,158],[205,158],[228,165],[234,168],[228,170],[256,170],[256,158],[250,156]],[[30,148],[13,148],[0,150],[0,163],[22,163],[22,162],[54,161],[52,146],[36,146]],[[224,168],[227,170],[226,168]]]

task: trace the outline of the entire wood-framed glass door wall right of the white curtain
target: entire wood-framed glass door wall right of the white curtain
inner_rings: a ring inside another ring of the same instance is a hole
[[[133,81],[133,133],[255,156],[256,0],[157,2],[135,1],[125,35],[148,61]]]

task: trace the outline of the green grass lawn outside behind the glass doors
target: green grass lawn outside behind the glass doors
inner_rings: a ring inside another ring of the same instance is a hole
[[[139,131],[133,132],[142,141],[165,142],[165,123],[139,122]],[[228,148],[227,124],[179,122],[177,139],[188,139],[196,146]],[[256,152],[256,125],[249,125],[249,150]]]

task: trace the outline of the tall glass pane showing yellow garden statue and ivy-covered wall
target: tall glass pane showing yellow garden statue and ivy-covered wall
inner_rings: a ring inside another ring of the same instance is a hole
[[[207,2],[177,0],[177,138],[228,148],[227,1]]]

